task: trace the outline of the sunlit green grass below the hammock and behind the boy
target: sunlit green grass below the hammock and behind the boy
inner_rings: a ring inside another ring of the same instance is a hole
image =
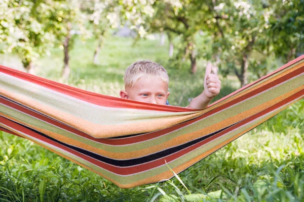
[[[186,106],[202,91],[205,62],[192,75],[188,64],[168,64],[168,44],[109,37],[92,64],[95,42],[77,41],[71,51],[75,87],[118,96],[126,67],[137,60],[158,61],[168,67],[172,105]],[[60,81],[62,50],[36,62],[37,74]],[[20,69],[14,56],[0,56]],[[167,64],[167,65],[166,65]],[[221,94],[239,88],[235,77],[222,79]],[[226,145],[177,178],[160,184],[120,189],[97,174],[34,143],[0,132],[0,201],[303,201],[304,100]]]

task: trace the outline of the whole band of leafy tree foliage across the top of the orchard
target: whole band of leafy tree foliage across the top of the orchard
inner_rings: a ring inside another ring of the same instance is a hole
[[[285,63],[304,53],[303,8],[302,0],[0,0],[0,51],[18,54],[30,68],[50,47],[63,48],[69,33],[69,49],[73,33],[82,40],[93,36],[100,48],[110,27],[130,24],[137,39],[168,33],[176,41],[177,54],[171,60],[191,64],[193,73],[197,60],[204,58],[219,66],[222,75],[235,74],[245,85],[270,72],[275,59]],[[199,30],[206,43],[197,39]]]

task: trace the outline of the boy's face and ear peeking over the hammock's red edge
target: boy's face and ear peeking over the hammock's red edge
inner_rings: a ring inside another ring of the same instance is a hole
[[[161,78],[149,76],[141,77],[134,87],[121,90],[122,98],[133,99],[144,103],[154,103],[166,105],[166,100],[169,96],[168,84]]]

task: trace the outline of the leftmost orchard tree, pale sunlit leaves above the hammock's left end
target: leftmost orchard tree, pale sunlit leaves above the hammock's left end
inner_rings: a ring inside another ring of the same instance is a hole
[[[48,53],[55,41],[45,24],[50,7],[32,1],[1,0],[0,42],[3,52],[17,54],[28,72],[33,72],[33,62]],[[39,10],[39,12],[37,12]]]

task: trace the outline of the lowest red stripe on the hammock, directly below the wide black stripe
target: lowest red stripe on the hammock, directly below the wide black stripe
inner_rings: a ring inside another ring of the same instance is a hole
[[[138,172],[142,172],[142,171],[145,171],[145,170],[148,170],[148,169],[153,169],[155,167],[164,165],[165,164],[164,160],[166,160],[167,162],[171,162],[171,161],[173,161],[173,160],[175,160],[175,159],[177,159],[177,158],[179,158],[179,157],[181,157],[181,156],[189,153],[190,151],[192,151],[192,150],[194,150],[194,149],[196,149],[196,148],[198,148],[198,147],[200,147],[200,146],[202,146],[202,145],[204,145],[204,144],[206,144],[206,143],[214,140],[215,138],[218,138],[221,135],[226,134],[227,132],[230,132],[230,131],[232,131],[232,130],[234,130],[234,129],[236,129],[236,128],[238,128],[238,127],[240,127],[240,126],[242,126],[242,125],[244,125],[244,124],[246,124],[246,123],[248,123],[250,121],[253,121],[253,120],[255,120],[255,119],[257,119],[257,118],[259,118],[259,117],[261,117],[261,116],[263,116],[263,115],[265,115],[265,114],[267,114],[267,113],[269,113],[269,112],[271,112],[271,111],[273,111],[273,110],[275,110],[275,109],[277,109],[277,108],[279,108],[279,107],[281,107],[281,106],[283,106],[283,105],[285,105],[285,104],[287,104],[289,102],[291,102],[292,100],[295,100],[296,98],[302,96],[303,94],[304,94],[304,89],[300,90],[299,92],[297,92],[297,93],[295,93],[295,94],[293,94],[291,96],[289,96],[288,98],[282,100],[281,102],[275,104],[274,106],[271,106],[270,108],[268,108],[268,109],[266,109],[266,110],[264,110],[262,112],[259,112],[259,113],[255,114],[255,115],[253,115],[253,116],[251,116],[251,117],[249,117],[249,118],[247,118],[247,119],[239,122],[238,124],[232,126],[231,128],[228,128],[228,129],[226,129],[224,131],[221,131],[220,133],[218,133],[218,134],[216,134],[216,135],[214,135],[214,136],[212,136],[212,137],[210,137],[210,138],[208,138],[206,140],[203,140],[202,142],[199,142],[199,143],[194,144],[192,146],[189,146],[189,147],[187,147],[187,148],[185,148],[183,150],[180,150],[180,151],[178,151],[175,154],[172,154],[170,156],[158,159],[158,160],[156,160],[154,162],[149,162],[149,163],[146,163],[146,164],[141,164],[141,165],[137,165],[137,166],[133,166],[133,167],[128,167],[128,168],[111,166],[111,165],[99,162],[99,161],[97,161],[97,160],[95,160],[95,159],[93,159],[91,157],[85,156],[85,155],[83,155],[83,154],[81,154],[81,153],[79,153],[77,151],[74,151],[74,150],[72,150],[72,149],[70,149],[68,147],[65,147],[65,146],[57,143],[57,142],[54,142],[54,141],[52,141],[52,140],[50,140],[50,139],[48,139],[48,138],[46,138],[44,136],[41,136],[41,135],[39,135],[37,133],[34,133],[31,130],[28,130],[28,129],[26,129],[26,128],[24,128],[24,127],[22,127],[22,126],[20,126],[20,125],[18,125],[16,123],[14,123],[14,122],[12,122],[12,121],[4,119],[3,117],[0,117],[0,122],[1,123],[5,123],[6,125],[8,125],[8,126],[10,126],[12,128],[15,128],[15,129],[17,129],[17,130],[19,130],[21,132],[24,132],[24,133],[26,133],[26,134],[28,134],[28,135],[30,135],[32,137],[35,137],[35,138],[40,139],[40,140],[42,140],[44,142],[48,142],[49,144],[52,144],[52,145],[57,146],[57,147],[59,147],[61,149],[64,149],[64,150],[68,151],[69,153],[71,153],[73,155],[76,155],[76,156],[78,156],[78,157],[80,157],[82,159],[85,159],[85,160],[89,161],[90,163],[95,164],[96,166],[99,166],[99,167],[101,167],[103,169],[106,169],[108,171],[111,171],[113,173],[117,173],[117,174],[120,174],[120,175],[130,175],[130,174],[135,174],[135,173],[138,173]]]

